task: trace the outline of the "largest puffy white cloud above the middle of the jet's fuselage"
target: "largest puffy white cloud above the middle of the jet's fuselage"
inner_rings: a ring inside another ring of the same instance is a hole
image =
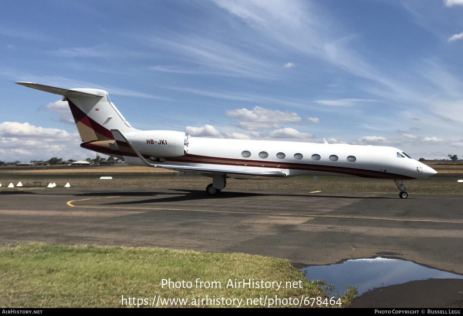
[[[254,107],[248,109],[234,109],[226,111],[227,117],[238,118],[245,122],[267,122],[267,123],[283,123],[283,122],[300,122],[301,118],[296,112],[282,112],[279,110],[271,110]]]

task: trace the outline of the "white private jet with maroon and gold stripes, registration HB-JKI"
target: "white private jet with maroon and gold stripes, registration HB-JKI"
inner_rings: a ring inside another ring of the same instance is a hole
[[[227,178],[358,176],[394,180],[400,198],[406,199],[404,180],[437,173],[394,147],[198,138],[177,131],[140,131],[125,120],[106,91],[17,84],[63,96],[81,135],[81,147],[124,158],[128,164],[211,177],[212,183],[206,188],[210,195],[225,188]]]

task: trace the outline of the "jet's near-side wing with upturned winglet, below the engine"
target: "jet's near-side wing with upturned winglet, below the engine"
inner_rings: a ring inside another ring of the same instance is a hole
[[[231,178],[260,178],[260,177],[283,177],[286,176],[286,173],[282,171],[273,171],[273,170],[263,170],[263,171],[250,171],[250,170],[229,170],[229,169],[220,169],[220,168],[202,168],[202,167],[193,167],[193,166],[177,166],[172,164],[153,164],[146,160],[138,150],[132,146],[132,144],[125,138],[125,136],[119,132],[117,129],[112,129],[115,140],[124,140],[140,158],[140,160],[148,167],[158,167],[169,170],[184,171],[190,172],[201,176],[212,176],[213,173],[224,173]]]

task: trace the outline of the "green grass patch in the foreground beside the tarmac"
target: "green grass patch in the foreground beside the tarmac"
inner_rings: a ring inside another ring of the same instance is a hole
[[[193,288],[162,288],[161,280],[169,278],[191,281]],[[197,278],[220,281],[221,288],[195,288]],[[302,288],[280,288],[279,291],[226,288],[228,280],[234,282],[235,278],[283,281],[282,286],[286,281],[301,280]],[[0,246],[0,307],[3,308],[121,307],[122,295],[148,300],[161,295],[161,298],[188,298],[188,302],[198,296],[215,295],[216,298],[244,298],[242,307],[249,307],[245,304],[247,298],[266,295],[324,299],[327,295],[322,284],[309,282],[288,260],[259,255],[45,243]],[[350,287],[341,297],[342,306],[350,304],[356,293],[356,289]]]

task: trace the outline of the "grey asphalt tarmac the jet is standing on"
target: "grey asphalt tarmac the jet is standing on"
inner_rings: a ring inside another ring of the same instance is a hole
[[[463,274],[462,206],[462,195],[445,194],[400,199],[398,194],[226,189],[217,197],[194,189],[0,192],[0,243],[244,252],[302,265],[381,255]],[[416,298],[413,307],[452,306],[463,302],[463,282],[455,282],[441,286],[448,293],[439,291],[432,302],[431,287],[411,282],[396,286],[399,290],[394,288],[387,297],[368,292],[353,306],[400,307],[398,298],[406,295]]]

